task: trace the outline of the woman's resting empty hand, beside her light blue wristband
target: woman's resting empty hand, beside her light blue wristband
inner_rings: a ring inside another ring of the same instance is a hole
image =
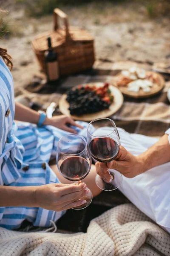
[[[73,119],[71,119],[71,117],[68,116],[54,116],[52,118],[46,118],[44,123],[44,125],[53,125],[59,129],[62,129],[64,131],[68,131],[74,134],[77,134],[77,131],[74,130],[73,128],[68,127],[68,125],[73,125],[76,127],[79,127],[80,129],[83,129],[83,127],[81,125],[78,125],[76,122],[74,122]]]

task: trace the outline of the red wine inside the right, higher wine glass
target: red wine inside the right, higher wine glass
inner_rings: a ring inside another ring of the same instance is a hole
[[[89,143],[91,156],[95,160],[107,163],[115,159],[119,154],[119,145],[112,138],[95,138]]]

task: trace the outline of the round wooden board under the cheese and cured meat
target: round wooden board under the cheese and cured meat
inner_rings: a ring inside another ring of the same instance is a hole
[[[150,71],[150,73],[155,74],[156,72],[152,72]],[[117,88],[119,88],[119,90],[126,96],[135,98],[135,99],[139,99],[139,98],[149,98],[157,93],[159,93],[163,88],[164,88],[164,78],[163,76],[161,76],[159,73],[156,73],[158,78],[159,78],[159,84],[154,83],[153,87],[150,87],[150,92],[145,93],[142,88],[139,89],[138,93],[132,92],[132,91],[128,91],[128,86],[117,86],[116,85],[116,80],[119,78],[119,76],[122,76],[121,73],[117,74],[116,76],[114,76],[114,78],[112,79],[112,84],[114,86],[116,86]]]

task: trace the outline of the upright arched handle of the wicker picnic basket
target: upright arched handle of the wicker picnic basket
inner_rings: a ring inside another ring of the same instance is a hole
[[[68,16],[62,12],[62,10],[56,8],[54,9],[54,30],[56,31],[59,28],[58,24],[58,17],[60,17],[65,24],[65,36],[68,38],[70,36],[69,31],[68,31]]]

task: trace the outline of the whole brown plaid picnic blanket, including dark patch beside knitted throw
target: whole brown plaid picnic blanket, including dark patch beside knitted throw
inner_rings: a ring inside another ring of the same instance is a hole
[[[113,76],[119,73],[120,70],[134,65],[147,70],[151,68],[150,64],[136,64],[130,61],[119,63],[97,61],[93,70],[61,79],[57,84],[46,84],[43,87],[38,85],[38,90],[33,84],[29,84],[26,89],[30,93],[36,92],[35,99],[40,103],[47,102],[47,99],[58,103],[61,94],[71,87],[90,82],[111,82]],[[164,79],[165,87],[156,96],[148,99],[133,99],[125,96],[122,108],[111,116],[116,126],[125,129],[129,133],[144,134],[151,137],[162,136],[170,127],[170,102],[167,99],[170,75],[164,75]],[[57,114],[59,114],[59,110]],[[61,230],[67,230],[67,232],[85,232],[92,218],[97,217],[111,207],[128,202],[128,199],[119,190],[102,192],[84,210],[68,210],[57,222],[57,227]]]

